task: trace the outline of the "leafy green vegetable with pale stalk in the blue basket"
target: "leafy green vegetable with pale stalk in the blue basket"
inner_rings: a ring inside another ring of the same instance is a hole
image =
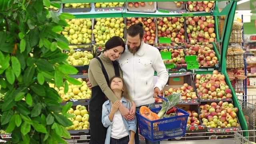
[[[166,111],[170,110],[172,107],[176,106],[181,100],[181,93],[172,93],[169,96],[165,97],[169,102],[164,101],[161,110],[158,112],[159,118],[163,118]]]

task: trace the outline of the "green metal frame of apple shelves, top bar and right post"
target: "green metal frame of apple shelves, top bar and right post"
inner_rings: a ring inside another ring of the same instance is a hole
[[[140,2],[173,2],[175,0],[140,0]],[[183,0],[183,1],[197,1],[197,0]],[[215,0],[216,1],[216,0]],[[219,1],[225,1],[225,0],[219,0]],[[137,0],[63,0],[61,3],[84,3],[84,2],[137,2]],[[228,50],[228,44],[231,34],[231,28],[234,21],[234,15],[236,11],[236,4],[237,0],[231,0],[229,4],[221,11],[218,10],[218,1],[215,3],[215,9],[212,13],[186,13],[190,14],[190,16],[214,16],[216,20],[216,35],[217,35],[217,42],[222,42],[222,50],[221,55],[217,54],[220,58],[220,72],[222,72],[226,79],[228,79],[228,75],[226,72],[226,53]],[[127,12],[126,10],[123,10],[122,12],[112,12],[112,13],[102,13],[102,12],[87,12],[87,13],[80,13],[80,14],[74,14],[76,18],[117,18],[117,17],[180,17],[180,16],[186,16],[186,14],[173,14],[173,13],[162,13],[162,12],[156,12],[156,13],[143,13],[143,12]],[[221,39],[219,39],[218,36],[218,27],[217,27],[217,16],[226,16],[225,24],[223,28],[223,33]],[[216,46],[215,46],[216,47]],[[208,74],[212,71],[196,71],[198,74]],[[231,82],[226,80],[227,85],[232,88]],[[244,118],[244,115],[242,113],[242,110],[238,104],[238,100],[236,98],[236,93],[234,89],[232,89],[232,95],[233,95],[233,104],[234,106],[239,108],[238,112],[238,120],[240,122],[240,126],[242,127],[242,130],[248,130],[248,126],[246,123],[246,120]],[[248,132],[244,132],[244,136],[248,136]]]

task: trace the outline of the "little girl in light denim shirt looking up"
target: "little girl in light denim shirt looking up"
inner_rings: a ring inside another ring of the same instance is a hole
[[[109,85],[118,100],[114,104],[107,100],[102,106],[102,124],[108,128],[105,144],[134,144],[136,118],[126,120],[118,110],[121,104],[129,109],[132,106],[127,86],[124,80],[117,76],[110,80]]]

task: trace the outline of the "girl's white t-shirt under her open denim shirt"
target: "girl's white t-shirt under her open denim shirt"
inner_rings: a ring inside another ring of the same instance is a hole
[[[120,101],[122,102],[122,100]],[[113,124],[111,129],[111,138],[120,139],[125,136],[128,136],[129,133],[124,126],[124,122],[122,120],[122,114],[119,110],[117,110],[113,117]]]

